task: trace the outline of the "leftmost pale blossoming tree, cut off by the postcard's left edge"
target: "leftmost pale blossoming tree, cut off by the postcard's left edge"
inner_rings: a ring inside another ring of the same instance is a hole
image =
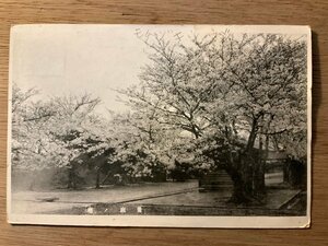
[[[55,112],[43,102],[34,102],[36,89],[21,90],[12,86],[12,166],[14,168],[38,169],[45,165],[46,154],[44,127]]]

